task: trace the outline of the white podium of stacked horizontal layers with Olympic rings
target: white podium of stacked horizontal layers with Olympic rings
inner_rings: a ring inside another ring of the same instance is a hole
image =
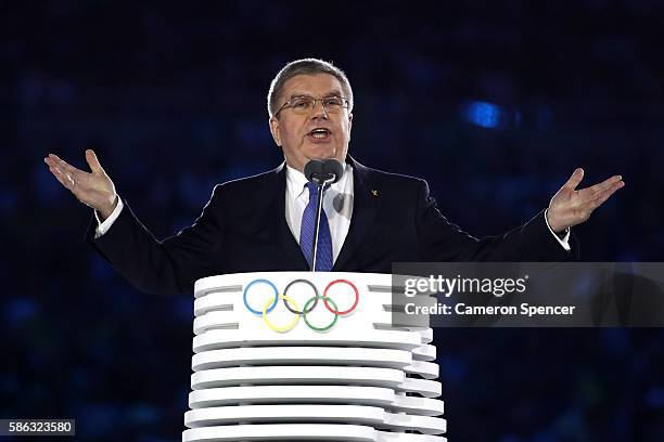
[[[392,312],[392,275],[241,273],[194,291],[183,442],[446,441],[433,330]]]

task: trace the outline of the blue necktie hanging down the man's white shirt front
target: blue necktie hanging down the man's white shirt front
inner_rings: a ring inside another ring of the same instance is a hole
[[[309,268],[311,268],[311,255],[314,252],[314,226],[316,224],[316,210],[318,208],[318,186],[307,183],[309,190],[309,204],[302,214],[302,227],[299,230],[299,248],[304,253]],[[325,187],[327,191],[329,188]],[[332,235],[330,224],[325,216],[325,209],[320,213],[320,226],[318,227],[318,250],[316,251],[316,270],[329,272],[332,270]]]

